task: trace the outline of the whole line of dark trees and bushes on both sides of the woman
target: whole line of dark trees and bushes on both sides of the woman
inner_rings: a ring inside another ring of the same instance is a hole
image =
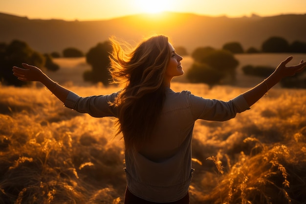
[[[83,79],[92,83],[102,82],[109,85],[111,76],[108,71],[109,53],[111,52],[109,41],[98,43],[84,54],[81,50],[68,47],[63,50],[62,57],[86,57],[86,62],[91,66],[83,74]],[[176,47],[180,55],[188,55],[185,47]],[[188,70],[187,78],[191,83],[205,83],[210,87],[216,84],[234,84],[236,69],[239,61],[235,54],[241,53],[306,53],[306,43],[294,41],[289,44],[284,38],[270,37],[262,43],[261,49],[250,47],[246,50],[238,42],[226,43],[221,49],[210,46],[198,47],[192,53],[194,59],[192,67]],[[25,42],[14,40],[10,44],[0,43],[0,80],[2,84],[24,86],[29,82],[22,82],[12,75],[13,66],[21,66],[22,63],[34,65],[39,68],[56,71],[59,66],[52,59],[61,57],[58,52],[41,54],[33,50]],[[242,68],[244,74],[256,76],[268,76],[274,68],[252,65]],[[306,88],[305,79],[289,77],[282,81],[284,87]]]

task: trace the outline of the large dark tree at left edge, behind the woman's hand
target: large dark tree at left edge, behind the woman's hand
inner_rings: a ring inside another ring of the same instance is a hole
[[[44,56],[34,51],[25,42],[14,40],[9,45],[1,45],[0,79],[6,85],[23,86],[30,82],[18,80],[12,71],[13,66],[22,67],[22,63],[44,67]]]

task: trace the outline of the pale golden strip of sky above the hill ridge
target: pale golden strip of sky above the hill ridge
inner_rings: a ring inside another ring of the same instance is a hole
[[[0,12],[29,19],[107,20],[161,11],[206,16],[306,14],[306,0],[0,0]]]

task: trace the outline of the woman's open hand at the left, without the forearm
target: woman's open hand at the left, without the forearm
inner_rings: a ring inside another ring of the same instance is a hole
[[[13,67],[13,75],[21,81],[39,81],[44,77],[41,69],[22,63],[23,68]]]

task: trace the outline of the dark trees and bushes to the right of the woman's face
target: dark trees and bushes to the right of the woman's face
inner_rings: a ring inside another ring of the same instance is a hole
[[[234,54],[242,53],[306,53],[306,43],[294,41],[289,44],[284,38],[270,37],[262,43],[258,50],[250,47],[243,50],[238,42],[226,43],[222,49],[213,47],[198,47],[192,53],[194,64],[187,73],[190,82],[205,83],[210,87],[216,84],[235,84],[235,73],[239,65]],[[267,77],[275,68],[267,66],[246,65],[242,67],[245,75]],[[306,88],[306,78],[295,75],[282,79],[281,86],[285,88]]]

